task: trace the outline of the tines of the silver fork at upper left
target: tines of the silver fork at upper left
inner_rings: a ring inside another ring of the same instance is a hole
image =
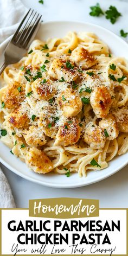
[[[36,11],[29,9],[23,18],[20,26],[17,28],[16,33],[12,37],[12,43],[18,44],[18,47],[28,48],[28,44],[32,41],[34,31],[36,30],[42,15]]]

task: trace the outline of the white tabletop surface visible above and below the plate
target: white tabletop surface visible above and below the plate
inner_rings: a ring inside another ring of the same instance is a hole
[[[44,4],[38,0],[22,0],[28,8],[39,11],[43,21],[49,20],[78,20],[103,25],[119,35],[119,30],[127,28],[128,3],[127,0],[44,0]],[[103,10],[114,5],[123,14],[116,24],[112,25],[105,17],[95,18],[89,16],[89,6],[99,2]],[[75,28],[74,28],[75,30]],[[104,181],[88,185],[87,187],[74,189],[47,188],[17,176],[2,164],[1,167],[10,183],[12,194],[18,208],[28,207],[29,199],[49,197],[80,197],[99,199],[101,208],[124,208],[128,206],[128,166],[107,178]]]

